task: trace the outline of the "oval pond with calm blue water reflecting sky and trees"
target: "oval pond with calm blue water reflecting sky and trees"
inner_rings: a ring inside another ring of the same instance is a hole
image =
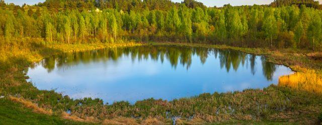
[[[54,55],[34,63],[27,75],[38,89],[111,104],[261,89],[290,73],[264,56],[235,50],[147,45]]]

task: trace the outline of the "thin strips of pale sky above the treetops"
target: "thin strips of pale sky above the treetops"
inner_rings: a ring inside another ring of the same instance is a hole
[[[22,5],[27,4],[36,4],[38,2],[43,2],[44,0],[5,0],[7,3],[15,3]],[[181,2],[182,0],[172,0],[175,2]],[[269,4],[274,0],[197,0],[203,2],[207,6],[222,6],[224,4],[230,3],[231,5],[253,5],[253,4]],[[322,0],[319,0],[322,3]]]

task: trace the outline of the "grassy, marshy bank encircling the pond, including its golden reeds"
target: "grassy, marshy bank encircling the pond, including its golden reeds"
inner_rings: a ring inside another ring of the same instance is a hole
[[[53,90],[38,90],[26,81],[24,69],[53,54],[140,43],[48,45],[41,42],[13,45],[0,53],[1,123],[103,123],[103,124],[204,124],[204,123],[319,123],[322,111],[321,60],[316,54],[292,49],[270,50],[224,45],[151,43],[235,49],[263,54],[273,63],[297,73],[282,76],[278,85],[227,93],[205,93],[173,101],[153,98],[103,104],[100,99],[70,99]],[[82,103],[82,104],[79,104]],[[28,107],[28,108],[24,108]],[[71,110],[70,114],[66,110]],[[6,112],[6,113],[5,113]]]

